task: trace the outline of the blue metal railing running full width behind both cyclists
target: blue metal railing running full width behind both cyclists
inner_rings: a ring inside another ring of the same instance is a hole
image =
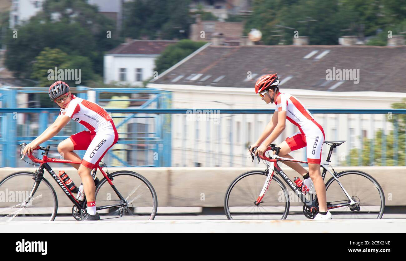
[[[99,95],[101,93],[114,93],[117,92],[118,89],[116,88],[111,88],[111,89],[93,89],[96,90],[96,99],[99,99]],[[11,91],[15,91],[15,90],[11,90]],[[191,113],[203,113],[203,114],[210,114],[210,113],[218,113],[218,114],[268,114],[268,116],[270,114],[272,114],[274,112],[274,110],[268,110],[268,109],[168,109],[168,107],[170,106],[170,102],[171,102],[171,94],[170,93],[164,93],[164,95],[162,94],[163,92],[160,90],[155,90],[155,89],[149,89],[149,88],[134,88],[134,89],[125,89],[125,90],[119,90],[120,93],[134,93],[134,91],[140,91],[140,92],[145,92],[145,93],[150,93],[150,94],[156,94],[157,96],[154,99],[148,99],[146,101],[146,103],[144,104],[144,106],[142,106],[143,108],[125,108],[125,109],[108,109],[108,112],[110,112],[111,114],[113,114],[113,118],[121,118],[123,119],[123,121],[121,123],[118,124],[118,126],[121,126],[123,124],[126,124],[127,122],[129,122],[131,119],[133,118],[149,118],[152,119],[154,118],[155,121],[155,132],[149,132],[148,129],[142,133],[144,133],[145,135],[154,135],[155,137],[143,137],[143,138],[139,138],[138,140],[125,140],[125,139],[120,139],[118,144],[128,144],[128,145],[135,145],[135,144],[150,144],[153,146],[152,151],[154,152],[158,152],[160,151],[160,155],[161,155],[161,160],[160,160],[160,164],[145,164],[145,165],[140,165],[140,166],[171,166],[171,142],[172,142],[172,138],[171,138],[171,115],[172,114],[191,114]],[[6,97],[3,96],[2,97]],[[6,95],[6,94],[5,94]],[[15,95],[15,94],[12,94]],[[159,98],[158,98],[159,97]],[[164,99],[160,99],[160,98],[164,98]],[[8,99],[7,99],[8,100]],[[125,99],[126,101],[137,101],[137,99]],[[139,100],[139,99],[138,99]],[[146,100],[146,99],[145,99]],[[117,101],[114,99],[100,99],[100,101]],[[9,101],[7,101],[9,102]],[[145,108],[147,106],[149,106],[150,104],[156,104],[156,107],[160,107],[160,108]],[[10,103],[7,104],[7,107],[12,107],[11,105],[15,105],[15,103]],[[42,126],[42,129],[39,129],[39,131],[42,131],[45,126],[47,126],[46,124],[44,125],[43,123],[48,123],[48,117],[46,117],[46,115],[50,114],[50,113],[58,113],[58,109],[54,109],[54,108],[0,108],[0,115],[3,116],[3,126],[2,126],[2,133],[6,132],[7,133],[11,133],[11,135],[7,136],[6,139],[3,139],[0,141],[0,144],[3,145],[3,149],[6,146],[7,151],[9,151],[9,149],[11,148],[11,146],[15,146],[17,145],[18,142],[23,141],[24,139],[26,141],[29,141],[31,138],[35,138],[33,136],[13,136],[13,133],[15,133],[15,122],[14,123],[10,123],[10,119],[12,119],[13,113],[35,113],[35,114],[39,114],[40,115],[40,126]],[[406,114],[406,110],[403,109],[379,109],[379,110],[364,110],[364,109],[311,109],[309,110],[312,114],[336,114],[337,118],[336,118],[336,126],[339,126],[339,117],[338,115],[340,114],[359,114],[359,118],[358,118],[358,125],[361,125],[362,123],[362,119],[361,119],[361,115],[362,114],[381,114],[383,115],[383,119],[382,119],[382,141],[381,144],[377,145],[375,144],[375,142],[372,140],[372,142],[370,143],[370,150],[369,150],[369,163],[370,164],[374,164],[374,148],[376,148],[376,146],[379,146],[380,148],[382,148],[382,159],[381,159],[381,165],[385,166],[387,163],[387,145],[389,145],[387,142],[387,138],[388,138],[388,133],[387,133],[387,115],[385,114],[393,114],[393,115],[400,115],[400,114]],[[42,112],[42,113],[41,113]],[[130,114],[128,116],[114,116],[114,114],[117,113],[121,113],[121,114]],[[138,116],[138,114],[155,114],[154,116]],[[395,116],[393,116],[395,117]],[[10,124],[10,125],[4,125],[4,119],[6,120],[6,123]],[[231,117],[231,119],[233,119],[233,117]],[[349,120],[350,118],[347,117],[347,124],[348,126],[350,126]],[[246,122],[246,117],[243,116],[243,121]],[[391,151],[393,157],[391,157],[389,160],[391,160],[393,162],[393,165],[398,165],[398,164],[402,164],[402,162],[399,162],[399,155],[402,152],[399,152],[398,149],[400,148],[399,146],[399,142],[398,139],[400,137],[400,131],[399,131],[399,121],[397,118],[393,119],[392,121],[392,135],[393,135],[393,144],[391,144],[393,146],[393,149]],[[175,124],[181,125],[181,122],[176,122]],[[202,124],[203,125],[203,124]],[[207,140],[206,142],[206,147],[209,148],[209,142],[213,141],[214,139],[212,139],[210,137],[210,133],[212,134],[218,134],[218,136],[221,136],[221,119],[220,119],[220,127],[218,127],[218,129],[214,129],[213,131],[210,131],[209,126],[207,125],[207,131],[206,131],[206,137]],[[229,139],[229,144],[230,144],[230,150],[232,151],[232,146],[233,146],[233,126],[234,126],[234,121],[230,120],[230,125],[229,125],[229,137],[227,137],[227,139]],[[186,137],[186,122],[184,122],[184,134],[182,137],[182,146],[185,147],[186,143],[187,143],[187,137]],[[200,125],[201,127],[201,125]],[[199,138],[199,123],[197,122],[195,125],[195,132],[193,134],[194,136],[194,144],[195,146],[197,145],[196,140]],[[257,131],[257,121],[254,122],[254,127],[255,127],[255,131]],[[374,130],[374,120],[371,121],[371,130]],[[356,130],[354,130],[355,132]],[[258,131],[257,131],[258,132]],[[355,134],[354,134],[355,135]],[[405,134],[402,134],[405,135]],[[352,142],[354,142],[354,137],[352,137],[352,133],[350,132],[350,128],[348,128],[348,136],[347,136],[347,140],[348,140],[348,144],[352,144]],[[358,129],[358,133],[356,136],[359,136],[358,141],[360,144],[359,147],[359,151],[363,151],[363,138],[362,138],[362,129]],[[59,138],[67,138],[65,136],[58,136],[58,137],[54,137],[51,139],[50,142],[56,142],[56,140],[58,140]],[[335,133],[335,137],[334,139],[338,139],[338,129],[336,129],[336,133]],[[163,148],[165,148],[164,150],[160,149],[160,146],[163,145]],[[7,147],[8,146],[8,147]],[[221,144],[218,143],[218,148],[221,147]],[[406,138],[405,138],[405,142],[404,142],[404,154],[406,154]],[[245,150],[245,148],[243,148]],[[352,148],[350,148],[352,149]],[[139,151],[147,151],[148,149],[129,149],[129,150],[139,150]],[[12,151],[12,150],[11,150]],[[114,150],[113,150],[114,151]],[[347,151],[347,155],[349,155],[349,150]],[[186,156],[186,151],[183,150],[182,155]],[[360,153],[360,154],[361,154]],[[305,154],[304,154],[305,155]],[[111,154],[111,156],[121,162],[121,164],[123,164],[124,166],[130,166],[127,163],[125,163],[125,161],[123,161],[123,159],[121,159],[119,156],[114,155],[114,153]],[[162,159],[163,156],[163,159]],[[198,156],[198,152],[194,151],[194,161],[197,162],[197,159],[199,159]],[[206,154],[206,158],[208,158],[209,156]],[[233,154],[230,153],[230,166],[232,166],[232,157]],[[221,154],[218,155],[218,159],[216,159],[218,162],[221,162]],[[363,164],[362,163],[362,157],[358,157],[357,162],[358,165]],[[6,161],[2,162],[2,166],[11,166],[11,161]],[[207,160],[208,161],[208,160]],[[350,162],[350,157],[347,157],[347,162]],[[155,162],[154,162],[155,163]],[[392,163],[391,163],[392,164]],[[406,165],[406,156],[405,156],[405,162],[404,164]]]

